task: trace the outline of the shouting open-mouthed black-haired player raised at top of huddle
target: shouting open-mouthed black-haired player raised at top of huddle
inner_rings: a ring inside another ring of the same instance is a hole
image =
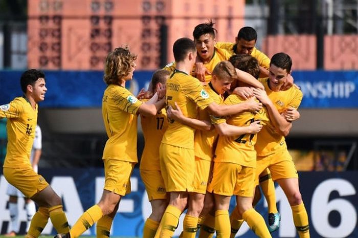
[[[215,47],[216,42],[216,29],[213,28],[214,23],[199,24],[194,28],[193,37],[196,45],[196,64],[200,68],[204,68],[205,74],[202,77],[198,77],[200,81],[209,83],[211,80],[211,73],[213,72],[216,64],[222,60],[228,60],[231,56],[229,52],[223,49]],[[175,63],[168,64],[165,69],[174,71]],[[196,66],[193,67],[191,73],[192,76],[196,77]],[[198,76],[201,76],[198,74]]]

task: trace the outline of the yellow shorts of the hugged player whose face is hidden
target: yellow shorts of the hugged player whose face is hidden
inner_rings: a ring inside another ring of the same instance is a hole
[[[255,176],[255,168],[215,162],[208,191],[222,196],[254,197]]]

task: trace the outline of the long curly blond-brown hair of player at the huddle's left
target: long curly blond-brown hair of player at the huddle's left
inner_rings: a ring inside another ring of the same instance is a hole
[[[137,55],[130,53],[128,47],[118,47],[109,52],[104,65],[104,82],[107,85],[118,83],[130,73],[136,59]]]

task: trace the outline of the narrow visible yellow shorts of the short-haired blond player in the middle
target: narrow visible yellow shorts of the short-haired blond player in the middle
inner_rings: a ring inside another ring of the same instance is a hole
[[[203,160],[195,157],[195,174],[194,174],[194,192],[206,193],[209,175],[210,175],[211,161]]]

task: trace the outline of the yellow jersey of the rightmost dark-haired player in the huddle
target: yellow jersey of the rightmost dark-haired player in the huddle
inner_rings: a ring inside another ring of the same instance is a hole
[[[283,113],[290,106],[298,109],[302,101],[302,92],[296,85],[286,91],[274,92],[269,87],[269,78],[262,78],[260,82],[264,85],[267,95],[274,102],[279,113]],[[271,123],[261,129],[255,145],[258,156],[270,155],[286,148],[285,138],[275,132]]]

